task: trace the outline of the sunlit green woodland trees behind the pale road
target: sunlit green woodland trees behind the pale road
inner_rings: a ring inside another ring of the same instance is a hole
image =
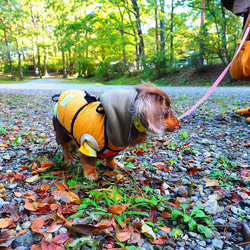
[[[242,17],[219,0],[0,0],[0,78],[161,79],[226,66]],[[183,85],[185,82],[183,82]]]

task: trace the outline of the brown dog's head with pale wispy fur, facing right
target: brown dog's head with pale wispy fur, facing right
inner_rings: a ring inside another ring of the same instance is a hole
[[[138,95],[134,113],[150,133],[164,134],[180,128],[180,123],[172,113],[171,102],[165,92],[153,84],[144,82],[135,89]]]

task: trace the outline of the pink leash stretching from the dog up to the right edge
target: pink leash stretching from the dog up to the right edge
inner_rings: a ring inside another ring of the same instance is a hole
[[[214,82],[214,84],[210,87],[210,89],[207,91],[207,93],[193,106],[191,107],[188,111],[186,111],[184,114],[178,117],[178,120],[182,119],[183,117],[189,115],[195,108],[197,108],[204,100],[208,98],[208,96],[214,91],[214,89],[218,86],[218,84],[221,82],[227,71],[229,70],[231,64],[233,63],[234,58],[238,55],[239,51],[241,50],[247,36],[250,30],[250,23],[247,26],[246,32],[241,40],[240,46],[237,49],[236,53],[234,54],[234,57],[232,61],[229,63],[229,65],[224,69],[224,71],[220,74],[220,76],[217,78],[217,80]]]

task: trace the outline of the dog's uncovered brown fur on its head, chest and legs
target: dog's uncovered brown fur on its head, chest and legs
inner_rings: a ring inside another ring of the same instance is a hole
[[[131,129],[131,137],[128,146],[135,146],[147,140],[149,133],[164,134],[173,132],[180,128],[178,119],[173,115],[171,102],[166,93],[153,84],[140,84],[135,87],[138,95],[136,97],[132,113],[137,115],[147,132],[139,132],[134,126]],[[70,142],[63,146],[64,162],[70,164],[74,161],[70,153]],[[96,161],[80,153],[80,159],[84,170],[84,176],[88,179],[97,180]],[[112,169],[122,169],[123,165],[114,158],[106,159],[106,164]]]

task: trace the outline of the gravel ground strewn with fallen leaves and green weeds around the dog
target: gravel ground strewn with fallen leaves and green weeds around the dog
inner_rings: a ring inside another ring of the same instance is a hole
[[[250,134],[235,114],[246,99],[210,97],[181,130],[122,152],[126,171],[99,162],[92,183],[64,165],[51,97],[37,96],[0,95],[0,249],[248,244]],[[197,98],[174,97],[176,114]]]

